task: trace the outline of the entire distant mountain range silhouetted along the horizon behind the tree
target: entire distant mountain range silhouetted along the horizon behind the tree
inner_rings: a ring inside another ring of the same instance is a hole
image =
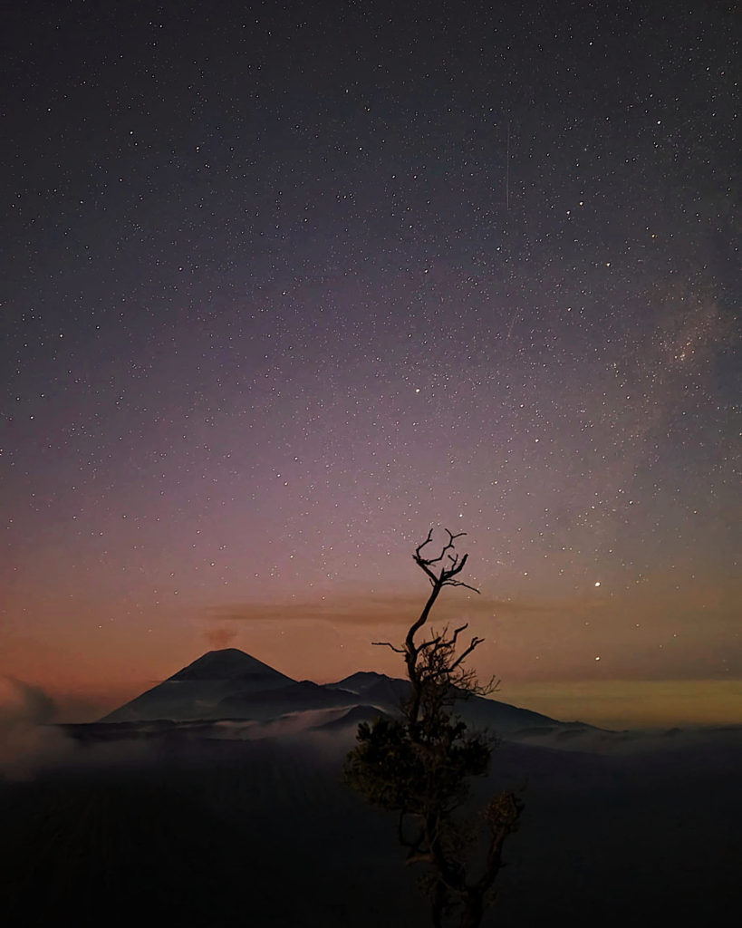
[[[126,702],[101,723],[187,723],[222,721],[264,727],[290,721],[291,730],[355,728],[375,715],[394,715],[409,684],[362,671],[323,685],[295,680],[236,648],[208,651],[172,677]],[[458,705],[468,724],[504,736],[562,733],[591,728],[559,722],[506,702],[472,696]]]

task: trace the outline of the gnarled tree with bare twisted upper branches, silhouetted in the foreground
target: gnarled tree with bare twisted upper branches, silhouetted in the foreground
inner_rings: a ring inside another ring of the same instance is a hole
[[[474,636],[460,646],[467,624],[418,637],[444,586],[479,592],[457,579],[468,555],[456,554],[454,542],[466,533],[454,535],[446,529],[446,534],[448,542],[438,557],[423,553],[433,540],[432,529],[415,549],[413,558],[432,589],[403,645],[374,642],[403,655],[410,690],[401,716],[379,717],[373,725],[359,726],[344,779],[370,802],[398,813],[405,863],[426,866],[420,883],[430,899],[434,928],[477,928],[493,902],[493,885],[504,866],[503,844],[517,831],[523,804],[516,793],[503,792],[474,816],[464,811],[468,780],[488,772],[495,742],[468,731],[455,703],[472,694],[487,695],[496,690],[497,682],[480,685],[465,665],[484,640]]]

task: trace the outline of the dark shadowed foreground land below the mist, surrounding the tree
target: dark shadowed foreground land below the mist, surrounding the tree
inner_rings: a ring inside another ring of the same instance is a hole
[[[428,925],[393,820],[339,784],[342,754],[331,740],[77,746],[0,784],[1,921]],[[740,775],[738,732],[615,756],[501,747],[492,784],[527,779],[527,807],[485,924],[730,923]]]

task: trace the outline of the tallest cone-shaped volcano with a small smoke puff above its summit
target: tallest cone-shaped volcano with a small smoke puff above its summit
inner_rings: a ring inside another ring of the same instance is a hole
[[[158,686],[115,709],[101,721],[213,718],[216,707],[228,696],[267,693],[296,682],[237,648],[208,651]]]

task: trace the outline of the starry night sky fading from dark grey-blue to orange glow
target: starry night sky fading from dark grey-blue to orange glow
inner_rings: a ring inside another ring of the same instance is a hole
[[[435,526],[500,698],[742,722],[733,4],[6,17],[0,670],[401,674]]]

